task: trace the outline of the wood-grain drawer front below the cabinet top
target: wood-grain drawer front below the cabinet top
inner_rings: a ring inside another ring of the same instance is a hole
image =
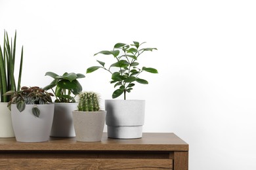
[[[0,169],[173,169],[173,163],[143,159],[1,159]]]

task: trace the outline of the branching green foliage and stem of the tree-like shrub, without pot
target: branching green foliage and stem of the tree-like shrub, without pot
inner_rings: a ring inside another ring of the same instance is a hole
[[[157,50],[157,48],[140,48],[142,44],[139,42],[133,41],[133,44],[125,44],[125,43],[117,43],[114,45],[113,50],[103,50],[95,54],[104,54],[104,55],[112,55],[117,60],[116,63],[110,65],[110,67],[105,67],[105,63],[102,61],[98,61],[101,66],[93,66],[87,69],[87,73],[92,73],[97,69],[105,69],[112,75],[111,84],[114,84],[114,88],[118,87],[117,90],[112,94],[112,98],[119,97],[122,93],[124,94],[124,99],[126,99],[126,92],[131,92],[133,90],[133,86],[135,86],[135,82],[139,82],[140,84],[148,84],[147,80],[139,78],[140,73],[143,71],[149,73],[158,73],[158,71],[152,67],[140,67],[138,59],[140,55],[145,51],[153,51]],[[121,50],[121,52],[120,52]],[[115,67],[118,68],[114,69]]]

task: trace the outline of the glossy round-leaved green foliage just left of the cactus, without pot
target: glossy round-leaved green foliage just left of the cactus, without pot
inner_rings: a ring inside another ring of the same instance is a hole
[[[75,103],[75,96],[83,90],[77,78],[84,78],[85,75],[80,73],[64,73],[62,76],[59,76],[53,72],[47,72],[45,75],[54,78],[51,84],[43,88],[43,90],[53,90],[53,88],[56,86],[55,90],[53,90],[56,97],[54,102]]]

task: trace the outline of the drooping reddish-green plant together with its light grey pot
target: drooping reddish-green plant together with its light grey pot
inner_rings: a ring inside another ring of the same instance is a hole
[[[53,93],[48,93],[37,86],[24,86],[19,91],[9,91],[5,95],[11,95],[8,105],[11,107],[16,141],[48,141],[53,124]]]

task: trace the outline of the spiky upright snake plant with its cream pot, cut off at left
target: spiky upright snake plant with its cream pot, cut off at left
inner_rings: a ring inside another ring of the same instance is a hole
[[[20,90],[22,76],[23,46],[20,57],[20,69],[18,75],[18,86],[14,78],[16,58],[16,31],[14,41],[9,41],[8,33],[4,33],[3,49],[0,45],[0,137],[14,137],[12,129],[11,111],[7,107],[10,96],[3,95],[9,90]],[[17,59],[17,58],[16,58]]]

